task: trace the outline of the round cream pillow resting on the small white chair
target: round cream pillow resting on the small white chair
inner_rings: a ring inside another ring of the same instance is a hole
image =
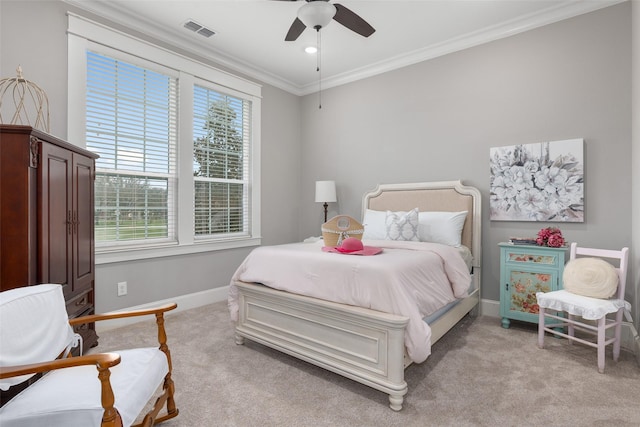
[[[576,258],[567,263],[562,275],[566,291],[593,298],[610,298],[618,289],[618,272],[600,258]]]

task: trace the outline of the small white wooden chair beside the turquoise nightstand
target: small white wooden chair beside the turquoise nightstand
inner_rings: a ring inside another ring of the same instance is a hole
[[[539,322],[538,322],[538,347],[544,348],[544,335],[549,332],[556,336],[568,338],[570,343],[579,343],[595,347],[598,349],[598,372],[604,373],[605,348],[613,344],[613,360],[617,361],[620,356],[620,335],[622,318],[625,310],[631,310],[631,304],[624,300],[625,283],[627,279],[627,267],[629,261],[629,248],[621,250],[607,250],[578,247],[576,243],[571,244],[569,262],[580,257],[592,257],[610,260],[617,260],[618,267],[615,268],[618,275],[618,287],[613,297],[609,299],[593,298],[584,295],[571,293],[561,289],[553,292],[538,292]],[[568,264],[567,264],[568,265]],[[615,267],[615,265],[614,265]],[[566,273],[566,269],[565,269]],[[549,310],[555,314],[549,313]],[[568,317],[561,314],[566,313]],[[608,319],[608,314],[614,314],[615,319]],[[553,319],[558,323],[546,323],[545,319]],[[564,328],[567,333],[564,333]],[[607,338],[607,330],[613,328],[613,333]],[[591,336],[595,335],[595,341],[587,340],[575,336],[575,330],[585,332]]]

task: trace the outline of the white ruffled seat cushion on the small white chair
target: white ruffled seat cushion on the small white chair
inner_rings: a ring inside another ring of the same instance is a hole
[[[551,310],[566,311],[587,320],[597,320],[608,313],[624,308],[631,310],[631,304],[621,299],[599,299],[576,295],[564,289],[553,292],[536,293],[538,305]]]

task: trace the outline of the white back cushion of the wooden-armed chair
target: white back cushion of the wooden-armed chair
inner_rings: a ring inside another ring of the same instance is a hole
[[[62,286],[24,286],[0,293],[0,366],[54,360],[74,342]],[[32,375],[0,380],[0,389]]]

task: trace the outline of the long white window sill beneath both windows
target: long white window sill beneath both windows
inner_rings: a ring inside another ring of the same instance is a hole
[[[253,237],[241,240],[225,240],[222,242],[194,243],[191,245],[171,245],[154,248],[119,248],[112,250],[96,250],[96,265],[112,264],[124,261],[162,258],[178,255],[189,255],[201,252],[212,252],[225,249],[260,246],[261,238]]]

